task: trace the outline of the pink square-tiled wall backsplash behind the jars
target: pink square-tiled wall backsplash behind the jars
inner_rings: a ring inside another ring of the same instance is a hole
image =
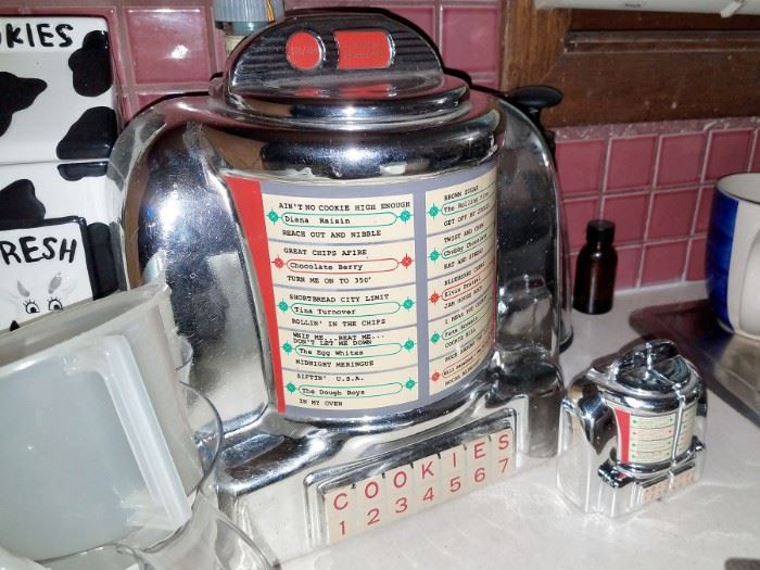
[[[349,5],[409,20],[436,43],[446,66],[469,73],[476,85],[498,87],[503,2],[286,0],[288,10]],[[106,17],[126,118],[166,94],[205,89],[224,68],[211,7],[212,0],[0,0],[0,13]],[[588,219],[613,219],[618,289],[704,278],[714,179],[760,172],[760,117],[568,127],[557,129],[557,141],[571,257]]]

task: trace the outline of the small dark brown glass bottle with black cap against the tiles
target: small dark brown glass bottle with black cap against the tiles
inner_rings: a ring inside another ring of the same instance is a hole
[[[578,254],[572,306],[587,315],[612,308],[618,253],[612,246],[615,224],[592,219],[586,226],[586,244]]]

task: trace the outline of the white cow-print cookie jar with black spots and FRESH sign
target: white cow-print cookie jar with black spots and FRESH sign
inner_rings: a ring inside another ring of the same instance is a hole
[[[116,289],[105,20],[0,17],[0,331]]]

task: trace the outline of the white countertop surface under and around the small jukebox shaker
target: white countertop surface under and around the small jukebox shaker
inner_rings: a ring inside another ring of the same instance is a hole
[[[638,335],[641,307],[705,296],[702,283],[618,294],[607,315],[573,313],[566,381]],[[760,559],[760,429],[709,395],[707,459],[688,490],[619,519],[584,515],[555,486],[555,459],[284,565],[301,569],[722,569]]]

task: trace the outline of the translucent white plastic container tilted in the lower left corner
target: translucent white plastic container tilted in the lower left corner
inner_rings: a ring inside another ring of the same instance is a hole
[[[202,469],[166,307],[147,286],[0,337],[5,548],[39,560],[189,519]]]

